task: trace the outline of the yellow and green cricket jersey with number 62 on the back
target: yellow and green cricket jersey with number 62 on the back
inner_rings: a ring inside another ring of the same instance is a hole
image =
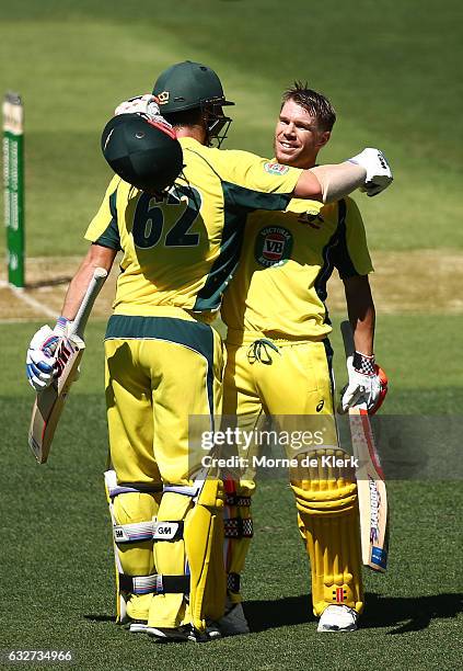
[[[285,209],[301,174],[246,151],[180,139],[184,172],[163,201],[114,178],[85,238],[123,251],[115,314],[217,310],[255,209]]]

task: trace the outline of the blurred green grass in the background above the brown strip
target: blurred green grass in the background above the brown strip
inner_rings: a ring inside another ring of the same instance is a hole
[[[109,174],[99,146],[105,121],[185,58],[215,67],[236,101],[229,147],[264,156],[282,89],[309,80],[338,111],[323,160],[380,145],[394,168],[393,189],[361,200],[373,249],[462,249],[458,0],[296,0],[290,16],[276,0],[183,0],[178,11],[149,0],[0,7],[0,91],[18,89],[26,105],[30,255],[84,249]]]

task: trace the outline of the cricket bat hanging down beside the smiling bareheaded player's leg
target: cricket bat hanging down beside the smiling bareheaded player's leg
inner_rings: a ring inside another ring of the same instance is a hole
[[[355,344],[349,321],[340,325],[346,356],[354,356]],[[360,513],[361,555],[364,566],[385,572],[387,568],[389,520],[387,494],[367,403],[349,408],[349,427],[352,439],[357,491]]]

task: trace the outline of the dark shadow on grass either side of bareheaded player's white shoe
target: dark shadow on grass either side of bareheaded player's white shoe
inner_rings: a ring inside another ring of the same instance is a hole
[[[432,596],[380,596],[369,592],[362,629],[396,627],[389,634],[426,629],[432,619],[455,617],[462,612],[462,594]],[[310,596],[287,596],[275,601],[247,601],[243,604],[252,632],[264,632],[314,621]]]

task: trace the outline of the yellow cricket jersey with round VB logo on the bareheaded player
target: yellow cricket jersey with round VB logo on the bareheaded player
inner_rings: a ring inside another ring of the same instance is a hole
[[[373,270],[351,198],[329,205],[293,200],[285,213],[250,215],[221,310],[229,342],[242,342],[243,331],[282,339],[326,337],[332,329],[324,302],[334,268],[342,278]]]

